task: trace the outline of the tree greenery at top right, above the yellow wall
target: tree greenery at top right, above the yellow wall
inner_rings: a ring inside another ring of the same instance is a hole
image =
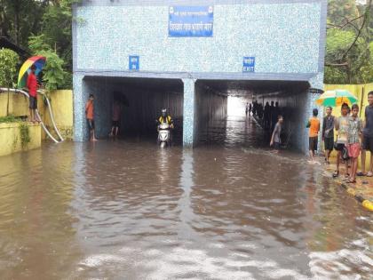
[[[371,44],[371,3],[330,0],[328,11],[326,84],[369,83],[373,76]]]

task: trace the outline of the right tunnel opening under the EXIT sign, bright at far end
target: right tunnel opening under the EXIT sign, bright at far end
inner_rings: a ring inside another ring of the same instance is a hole
[[[195,84],[196,111],[194,139],[197,145],[268,147],[270,123],[265,121],[266,102],[274,104],[284,117],[282,142],[290,149],[304,150],[305,120],[312,104],[306,81],[198,80]],[[247,103],[258,102],[262,112],[246,116]],[[274,114],[273,114],[274,115]]]

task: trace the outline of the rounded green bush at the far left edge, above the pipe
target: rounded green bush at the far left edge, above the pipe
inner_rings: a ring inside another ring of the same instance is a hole
[[[0,85],[12,87],[17,82],[17,65],[20,58],[16,52],[2,48],[0,50]]]

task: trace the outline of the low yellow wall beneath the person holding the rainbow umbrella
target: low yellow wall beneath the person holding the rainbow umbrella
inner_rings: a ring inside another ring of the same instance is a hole
[[[30,142],[24,148],[22,148],[20,142],[20,123],[0,124],[0,156],[9,155],[21,150],[40,148],[40,125],[28,123],[28,132]]]

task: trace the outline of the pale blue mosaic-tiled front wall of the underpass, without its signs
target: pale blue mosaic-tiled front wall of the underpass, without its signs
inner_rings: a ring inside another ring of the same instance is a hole
[[[169,36],[173,5],[210,5],[213,36]],[[73,24],[75,140],[87,139],[81,108],[94,90],[84,76],[183,79],[186,145],[195,139],[197,79],[296,80],[322,88],[326,12],[327,0],[83,0]],[[129,69],[130,55],[139,55],[139,71]],[[245,56],[255,56],[255,72],[242,72]]]

